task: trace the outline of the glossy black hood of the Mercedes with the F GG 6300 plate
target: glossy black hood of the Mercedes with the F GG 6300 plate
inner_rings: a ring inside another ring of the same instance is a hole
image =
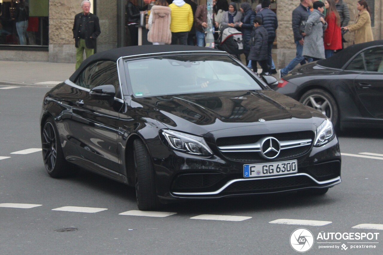
[[[264,124],[319,125],[324,116],[272,90],[224,91],[132,99],[141,114],[173,130],[204,135]],[[316,121],[313,121],[313,117]]]

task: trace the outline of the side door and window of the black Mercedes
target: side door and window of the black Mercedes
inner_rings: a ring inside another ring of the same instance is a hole
[[[73,97],[72,134],[79,154],[85,161],[118,172],[117,149],[119,110],[123,105],[116,62],[99,61],[85,68],[75,80],[79,89]],[[115,99],[101,100],[90,96],[90,89],[112,84]]]

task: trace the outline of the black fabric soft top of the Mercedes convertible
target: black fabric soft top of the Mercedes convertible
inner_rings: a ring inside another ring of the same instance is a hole
[[[155,54],[155,53],[166,53],[166,52],[193,52],[193,51],[216,51],[223,52],[221,50],[206,48],[206,47],[197,47],[197,46],[188,46],[188,45],[141,45],[141,46],[129,46],[122,48],[115,48],[111,50],[105,50],[100,53],[94,54],[87,59],[85,59],[80,67],[70,76],[69,80],[74,81],[79,73],[85,68],[89,63],[95,62],[98,60],[111,60],[117,61],[120,57],[129,57],[133,55],[144,55],[144,54]]]

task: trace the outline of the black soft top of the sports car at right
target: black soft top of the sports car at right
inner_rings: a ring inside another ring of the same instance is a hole
[[[350,60],[350,58],[357,54],[360,50],[377,45],[383,46],[383,40],[351,45],[341,50],[331,58],[321,59],[318,60],[318,62],[316,63],[317,65],[321,65],[323,67],[342,69],[344,68],[344,65]]]

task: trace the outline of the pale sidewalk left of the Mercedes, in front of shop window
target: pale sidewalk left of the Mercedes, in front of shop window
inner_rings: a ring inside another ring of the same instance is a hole
[[[0,61],[0,85],[53,87],[74,71],[74,63]]]

